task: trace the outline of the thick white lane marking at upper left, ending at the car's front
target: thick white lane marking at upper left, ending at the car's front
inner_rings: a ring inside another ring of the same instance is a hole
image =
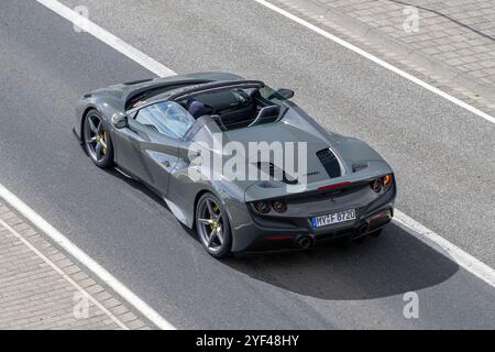
[[[146,54],[140,52],[135,47],[129,45],[121,38],[114,36],[110,32],[103,30],[96,23],[89,21],[84,15],[80,15],[79,13],[73,11],[72,9],[67,8],[66,6],[62,4],[58,1],[55,0],[37,0],[41,4],[48,8],[50,10],[54,11],[55,13],[59,14],[64,19],[70,21],[75,25],[77,25],[79,29],[88,32],[96,38],[100,40],[105,44],[113,47],[119,53],[124,54],[129,58],[133,59],[141,66],[147,68],[152,73],[155,73],[160,77],[166,77],[166,76],[174,76],[175,73],[161,63],[154,61]]]

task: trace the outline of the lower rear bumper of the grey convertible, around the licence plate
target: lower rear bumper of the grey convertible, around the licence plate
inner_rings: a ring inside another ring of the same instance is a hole
[[[396,187],[392,187],[377,200],[355,206],[356,219],[348,222],[312,228],[310,216],[298,219],[299,224],[289,228],[282,226],[266,226],[270,222],[257,221],[251,215],[253,221],[238,227],[234,230],[232,252],[276,252],[285,250],[300,250],[317,245],[320,242],[329,241],[340,237],[350,235],[360,238],[373,233],[386,227],[394,216],[394,204]],[[349,209],[353,208],[349,206]],[[340,211],[343,209],[328,209],[322,212]],[[308,241],[309,240],[309,241]]]

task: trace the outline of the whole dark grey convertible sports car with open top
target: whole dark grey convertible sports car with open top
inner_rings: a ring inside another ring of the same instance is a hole
[[[394,213],[391,166],[364,142],[323,129],[293,96],[227,73],[133,81],[86,94],[74,132],[98,167],[156,193],[215,257],[377,237]],[[268,177],[235,179],[193,162],[191,151],[224,155],[229,142],[305,143],[306,173],[245,156]]]

